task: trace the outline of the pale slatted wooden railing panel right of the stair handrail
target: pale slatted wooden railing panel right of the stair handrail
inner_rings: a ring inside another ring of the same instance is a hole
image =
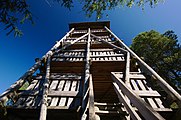
[[[120,74],[115,73],[116,76],[119,76],[118,78],[122,79],[123,75]],[[155,111],[172,111],[169,106],[164,106],[165,101],[163,101],[162,96],[158,91],[151,88],[151,85],[146,82],[146,77],[144,75],[132,72],[130,74],[132,74],[130,79],[130,88],[135,94],[140,96],[142,100],[148,103]],[[139,79],[139,76],[141,79]]]

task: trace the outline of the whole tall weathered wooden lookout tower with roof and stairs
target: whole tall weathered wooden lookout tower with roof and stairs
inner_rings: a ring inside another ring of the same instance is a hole
[[[110,30],[110,22],[69,29],[1,94],[0,119],[181,119],[181,96]]]

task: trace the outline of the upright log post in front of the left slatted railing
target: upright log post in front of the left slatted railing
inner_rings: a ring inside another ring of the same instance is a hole
[[[50,78],[50,61],[51,61],[51,56],[48,55],[46,76],[45,76],[45,81],[43,84],[43,95],[42,95],[42,101],[41,101],[39,120],[46,120],[46,116],[47,116],[47,106],[48,106],[47,97],[48,97],[48,85],[49,85],[49,78]]]

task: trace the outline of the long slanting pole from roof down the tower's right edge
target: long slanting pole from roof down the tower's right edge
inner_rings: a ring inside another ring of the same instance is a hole
[[[177,100],[177,103],[179,107],[181,107],[181,96],[180,94],[175,91],[163,78],[161,78],[150,66],[148,66],[142,59],[140,59],[128,46],[126,46],[122,40],[120,40],[111,30],[109,30],[106,26],[105,29],[111,33],[118,41],[119,43],[128,51],[131,53],[131,55],[138,60],[138,63],[140,63],[142,66],[145,67],[152,75],[159,81],[160,87],[165,90],[165,92],[172,97],[173,99]]]

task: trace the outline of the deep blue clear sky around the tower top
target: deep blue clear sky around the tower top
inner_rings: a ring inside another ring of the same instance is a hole
[[[0,24],[0,93],[18,80],[33,64],[41,58],[66,32],[68,23],[95,21],[95,17],[86,18],[81,6],[76,3],[69,11],[46,0],[31,1],[31,11],[35,25],[26,22],[21,29],[24,35],[14,38],[6,36]],[[49,0],[50,1],[50,0]],[[156,30],[164,33],[173,30],[181,43],[181,1],[165,0],[155,8],[120,7],[106,11],[108,17],[100,21],[110,21],[111,30],[129,46],[132,39],[140,32]]]

